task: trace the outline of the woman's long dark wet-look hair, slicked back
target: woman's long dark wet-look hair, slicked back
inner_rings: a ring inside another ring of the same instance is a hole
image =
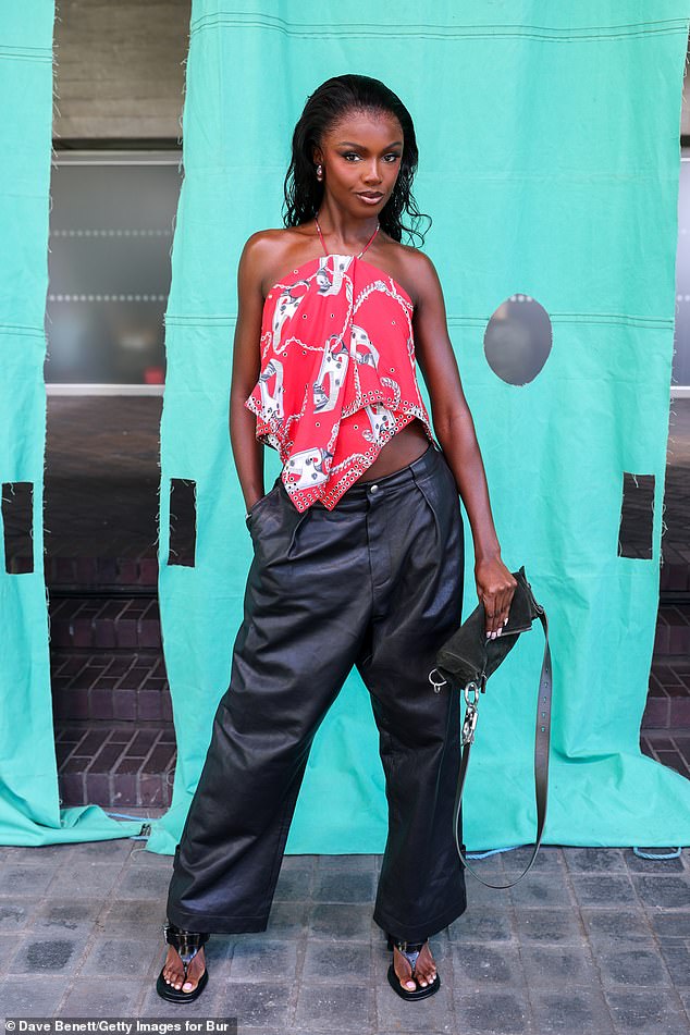
[[[320,147],[323,134],[353,110],[390,112],[401,123],[404,134],[401,169],[393,194],[381,209],[379,222],[394,241],[401,241],[403,231],[406,231],[410,236],[421,237],[423,244],[424,235],[417,230],[417,224],[420,219],[428,219],[429,225],[432,221],[430,215],[419,211],[411,192],[419,158],[412,119],[393,90],[368,75],[334,75],[307,98],[293,133],[292,160],[285,175],[285,226],[299,226],[313,219],[319,211],[324,188],[323,181],[316,177],[312,147]],[[412,226],[402,222],[403,212],[412,218]]]

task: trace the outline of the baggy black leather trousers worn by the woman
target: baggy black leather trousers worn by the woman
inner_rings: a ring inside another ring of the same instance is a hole
[[[303,513],[279,477],[247,520],[244,620],[175,849],[168,919],[196,932],[266,929],[311,742],[356,665],[389,806],[373,920],[397,938],[429,937],[467,908],[453,836],[459,695],[428,678],[461,620],[453,472],[430,443],[401,470],[355,482],[333,510]]]

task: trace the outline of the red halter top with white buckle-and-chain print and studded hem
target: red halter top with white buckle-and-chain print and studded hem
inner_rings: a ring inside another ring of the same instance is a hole
[[[435,441],[416,378],[412,300],[361,255],[303,263],[263,307],[260,374],[244,405],[257,440],[278,449],[298,510],[317,500],[332,510],[416,417]]]

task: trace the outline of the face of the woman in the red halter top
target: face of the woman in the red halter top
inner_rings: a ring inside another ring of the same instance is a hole
[[[348,112],[324,135],[321,148],[315,149],[325,190],[355,218],[378,215],[393,193],[403,143],[403,127],[395,115]],[[368,201],[362,194],[379,197]]]

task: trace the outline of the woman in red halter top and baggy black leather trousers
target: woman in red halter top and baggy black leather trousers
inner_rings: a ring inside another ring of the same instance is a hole
[[[242,252],[231,441],[255,554],[175,851],[157,985],[174,1001],[205,987],[211,932],[266,929],[311,741],[353,665],[371,693],[389,802],[373,919],[403,998],[438,990],[429,936],[467,907],[452,823],[458,694],[428,681],[460,624],[458,490],[488,636],[501,634],[516,582],[439,278],[401,243],[402,213],[419,215],[417,156],[409,112],[382,83],[326,81],[294,132],[285,229],[252,234]],[[264,444],[283,465],[268,493]]]

